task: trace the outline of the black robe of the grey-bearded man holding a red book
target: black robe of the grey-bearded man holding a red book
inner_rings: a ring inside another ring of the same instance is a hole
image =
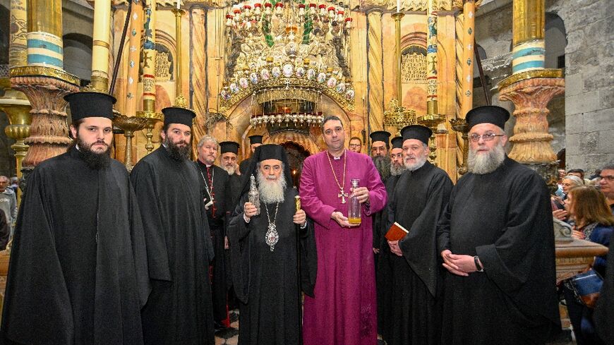
[[[387,243],[383,247],[390,265],[383,291],[390,308],[383,327],[387,344],[439,344],[443,271],[436,233],[451,190],[447,173],[425,162],[415,171],[405,171],[390,196],[387,226],[397,222],[409,234],[399,241],[402,257],[391,253]]]

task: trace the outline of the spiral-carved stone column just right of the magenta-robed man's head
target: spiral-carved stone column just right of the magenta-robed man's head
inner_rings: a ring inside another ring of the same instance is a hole
[[[382,50],[382,8],[375,7],[367,11],[368,41],[368,131],[384,129],[384,84],[383,84],[383,50]]]

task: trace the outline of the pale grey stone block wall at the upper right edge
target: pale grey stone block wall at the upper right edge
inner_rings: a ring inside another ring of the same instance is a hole
[[[574,4],[572,4],[574,3]],[[565,21],[567,169],[614,162],[614,13],[611,1],[548,1]]]

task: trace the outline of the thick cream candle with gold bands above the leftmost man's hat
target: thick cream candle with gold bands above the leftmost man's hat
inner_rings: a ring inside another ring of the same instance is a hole
[[[111,32],[111,0],[94,3],[94,35],[92,44],[92,86],[109,91],[109,35]]]

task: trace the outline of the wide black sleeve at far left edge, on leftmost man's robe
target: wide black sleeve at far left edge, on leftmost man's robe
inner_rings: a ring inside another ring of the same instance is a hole
[[[21,344],[73,344],[71,300],[48,213],[54,210],[54,200],[46,198],[44,182],[37,169],[28,178],[11,250],[1,329],[4,337]]]

